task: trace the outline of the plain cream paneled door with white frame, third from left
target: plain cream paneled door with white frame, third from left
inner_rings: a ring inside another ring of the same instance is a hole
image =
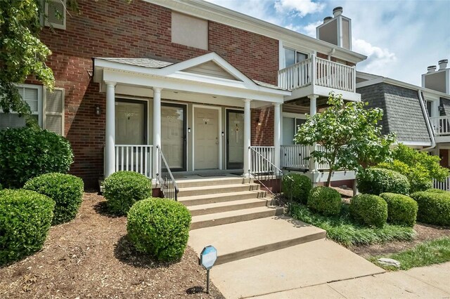
[[[219,168],[219,110],[194,109],[194,167]]]

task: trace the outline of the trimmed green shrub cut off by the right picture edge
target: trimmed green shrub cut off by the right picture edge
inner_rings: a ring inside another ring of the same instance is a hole
[[[419,206],[419,222],[450,226],[450,194],[425,191],[413,193],[411,197]]]

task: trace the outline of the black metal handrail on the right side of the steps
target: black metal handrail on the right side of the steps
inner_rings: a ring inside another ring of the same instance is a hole
[[[266,190],[278,197],[281,194],[281,185],[284,176],[283,171],[281,171],[281,169],[276,167],[271,161],[269,161],[269,159],[255,150],[254,147],[249,147],[249,149],[250,169],[248,170],[248,173],[250,173],[250,175],[259,182],[259,184],[266,188]],[[253,169],[252,167],[254,166],[255,161],[258,161],[258,171],[255,171],[255,169]],[[288,178],[290,184],[294,184],[294,180],[288,175],[286,176],[286,178]],[[292,201],[292,198],[288,200]]]

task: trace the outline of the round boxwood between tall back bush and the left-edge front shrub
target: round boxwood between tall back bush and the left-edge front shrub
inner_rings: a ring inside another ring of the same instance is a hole
[[[44,194],[55,201],[52,225],[75,218],[83,201],[83,180],[74,175],[46,173],[28,180],[24,189]]]

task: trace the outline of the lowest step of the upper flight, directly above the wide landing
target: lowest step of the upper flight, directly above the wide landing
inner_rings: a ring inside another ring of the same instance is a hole
[[[262,206],[258,208],[245,208],[243,210],[213,213],[193,216],[191,230],[203,227],[213,227],[234,222],[248,221],[258,218],[271,217],[283,214],[283,208],[279,206]]]

